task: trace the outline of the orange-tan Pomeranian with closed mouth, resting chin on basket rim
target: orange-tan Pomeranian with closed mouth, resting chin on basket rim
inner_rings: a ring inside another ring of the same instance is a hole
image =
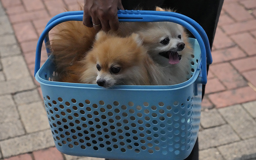
[[[118,37],[100,31],[84,58],[67,68],[62,82],[114,85],[164,85],[162,68],[148,55],[138,34]]]

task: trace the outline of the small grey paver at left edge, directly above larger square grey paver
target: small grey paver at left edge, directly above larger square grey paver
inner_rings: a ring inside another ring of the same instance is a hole
[[[0,46],[0,56],[7,57],[21,54],[20,47],[17,44]]]

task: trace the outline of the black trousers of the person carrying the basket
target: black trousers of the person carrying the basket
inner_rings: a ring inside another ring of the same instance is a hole
[[[204,28],[209,39],[210,47],[212,48],[223,1],[224,0],[122,0],[122,4],[124,9],[127,10],[155,10],[156,6],[174,9],[176,12],[192,18]],[[192,34],[191,37],[193,37]],[[207,65],[207,73],[208,69],[209,65]],[[203,85],[202,98],[204,96],[204,90],[205,85]],[[198,160],[198,152],[197,139],[191,154],[185,160]]]

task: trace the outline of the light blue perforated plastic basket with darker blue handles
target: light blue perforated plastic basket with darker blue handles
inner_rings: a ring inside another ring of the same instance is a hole
[[[55,66],[49,58],[40,68],[41,47],[48,32],[83,12],[64,12],[49,21],[36,49],[36,80],[56,148],[65,154],[111,159],[183,160],[195,145],[200,124],[202,84],[212,62],[208,38],[194,20],[173,12],[119,11],[119,21],[170,21],[186,27],[196,39],[191,78],[169,86],[119,85],[48,81]],[[39,69],[40,68],[40,69]]]

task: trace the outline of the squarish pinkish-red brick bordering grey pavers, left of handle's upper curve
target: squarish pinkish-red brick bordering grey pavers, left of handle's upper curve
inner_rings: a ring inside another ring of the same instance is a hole
[[[13,29],[19,42],[38,39],[36,30],[31,22],[16,23],[13,25]]]

